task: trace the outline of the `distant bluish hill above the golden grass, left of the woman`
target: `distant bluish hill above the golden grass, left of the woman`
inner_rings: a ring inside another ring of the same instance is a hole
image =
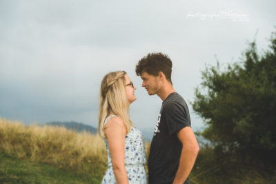
[[[97,134],[97,128],[92,127],[90,125],[84,125],[83,123],[78,123],[75,121],[70,122],[60,122],[60,121],[52,121],[48,122],[45,125],[57,125],[57,126],[63,126],[70,130],[75,130],[76,132],[90,132],[92,134]]]

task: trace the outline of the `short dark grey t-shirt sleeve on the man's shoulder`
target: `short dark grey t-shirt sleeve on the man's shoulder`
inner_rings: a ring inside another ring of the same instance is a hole
[[[170,103],[164,110],[168,133],[171,135],[184,127],[190,127],[190,120],[183,105],[179,103]]]

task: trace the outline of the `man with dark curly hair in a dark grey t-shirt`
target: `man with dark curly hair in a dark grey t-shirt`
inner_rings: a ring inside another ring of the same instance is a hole
[[[148,157],[150,184],[188,183],[199,152],[188,106],[172,87],[171,72],[172,61],[161,53],[148,54],[136,65],[142,87],[163,101]]]

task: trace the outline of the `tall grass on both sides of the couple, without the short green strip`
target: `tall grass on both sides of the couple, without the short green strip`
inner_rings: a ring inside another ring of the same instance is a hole
[[[150,143],[146,143],[148,159]],[[65,127],[23,125],[0,118],[0,153],[36,163],[53,165],[60,170],[87,176],[100,183],[107,169],[103,139],[87,132],[77,133]],[[147,170],[147,167],[146,167]],[[276,173],[276,172],[275,172]],[[201,147],[190,174],[190,183],[275,183],[270,176],[229,159],[217,158],[210,147]]]

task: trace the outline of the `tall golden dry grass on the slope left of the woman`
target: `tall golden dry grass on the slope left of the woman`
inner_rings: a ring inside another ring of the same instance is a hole
[[[101,178],[107,167],[103,139],[65,127],[26,126],[0,118],[0,150],[19,159],[89,173],[96,178]]]

